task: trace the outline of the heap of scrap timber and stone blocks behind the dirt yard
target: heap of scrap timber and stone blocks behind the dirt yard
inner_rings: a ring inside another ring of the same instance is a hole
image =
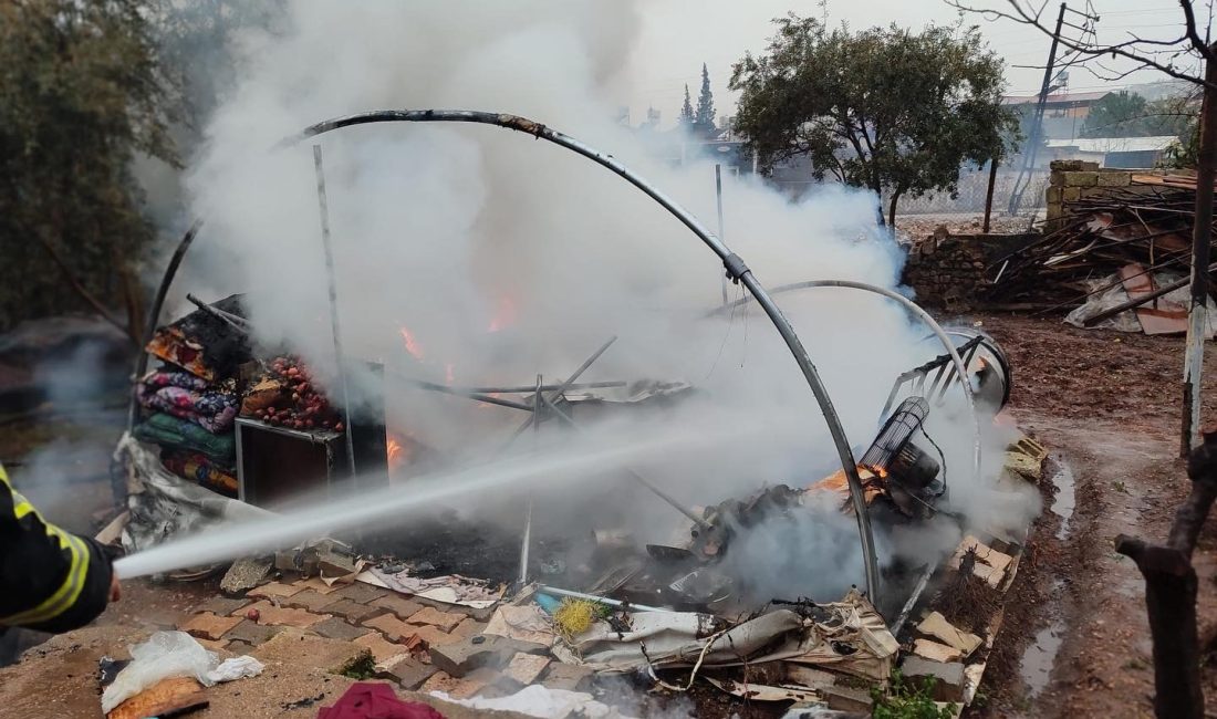
[[[909,248],[904,281],[922,302],[954,310],[1069,311],[1079,327],[1183,332],[1194,175],[1055,161],[1050,182],[1041,231],[938,228]]]

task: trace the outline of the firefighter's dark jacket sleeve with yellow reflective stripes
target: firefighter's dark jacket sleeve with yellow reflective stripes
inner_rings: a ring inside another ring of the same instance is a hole
[[[101,545],[44,519],[0,467],[0,631],[84,627],[106,608],[111,573]]]

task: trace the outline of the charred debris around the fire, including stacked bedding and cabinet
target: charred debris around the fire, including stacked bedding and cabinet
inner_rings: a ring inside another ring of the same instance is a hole
[[[240,297],[195,302],[198,309],[156,332],[147,350],[162,364],[136,383],[134,439],[120,448],[128,470],[122,528],[128,551],[239,516],[248,505],[270,506],[341,484],[352,460],[360,471],[382,467],[386,477],[398,478],[442,461],[406,432],[386,428],[382,408],[347,411],[298,358],[256,347]],[[684,506],[658,483],[627,471],[636,491],[672,507],[669,543],[643,544],[594,517],[582,538],[549,537],[543,522],[534,523],[529,502],[517,532],[438,516],[399,532],[241,560],[228,568],[223,588],[239,592],[271,579],[318,578],[368,584],[465,614],[484,623],[477,634],[444,639],[419,625],[417,634],[397,640],[413,662],[454,681],[510,673],[525,653],[548,667],[531,676],[542,683],[576,676],[585,689],[598,676],[623,675],[669,692],[701,687],[694,691],[867,712],[870,689],[882,690],[899,668],[914,681],[931,679],[935,697],[959,709],[978,686],[1026,528],[978,527],[952,502],[953,483],[971,481],[971,468],[948,466],[944,438],[932,437],[927,417],[947,411],[948,399],[966,382],[985,411],[982,421],[991,422],[1009,398],[1011,377],[992,338],[971,328],[952,335],[968,376],[959,377],[946,354],[899,375],[858,473],[881,545],[901,541],[903,529],[929,526],[963,539],[930,561],[898,552],[884,557],[879,596],[848,589],[848,577],[840,578],[845,591],[836,597],[767,595],[750,562],[739,561],[755,551],[744,547],[758,533],[776,537],[770,551],[793,564],[803,552],[823,551],[801,546],[797,530],[774,528],[814,524],[824,511],[849,516],[853,505],[840,471],[713,506]],[[549,422],[578,431],[588,416],[680,403],[694,392],[683,382],[582,382],[611,346],[612,339],[561,381],[415,386],[471,408],[489,403],[517,410],[521,422],[511,438]],[[383,371],[371,367],[372,376]],[[1013,444],[996,489],[1017,491],[1038,481],[1044,456],[1028,438]],[[408,478],[400,487],[409,491]],[[849,541],[856,544],[857,535]],[[846,554],[860,564],[856,547]],[[224,567],[178,578],[217,569]],[[391,667],[382,662],[378,670]]]

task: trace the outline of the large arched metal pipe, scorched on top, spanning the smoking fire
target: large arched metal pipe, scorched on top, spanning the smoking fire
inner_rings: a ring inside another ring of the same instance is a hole
[[[865,579],[867,579],[867,592],[870,595],[871,601],[877,601],[879,599],[879,564],[875,555],[875,540],[874,534],[870,528],[870,519],[868,517],[868,509],[865,498],[863,495],[862,478],[858,476],[858,464],[853,456],[853,451],[849,449],[849,440],[845,434],[845,428],[841,426],[841,420],[837,416],[836,409],[832,406],[832,400],[829,398],[828,389],[820,381],[819,372],[815,370],[815,365],[812,364],[811,358],[807,354],[807,349],[803,348],[803,343],[800,342],[798,336],[795,333],[795,328],[791,326],[790,321],[781,314],[781,310],[773,302],[773,298],[765,292],[764,287],[752,274],[752,270],[744,263],[740,255],[731,252],[727,245],[722,242],[708,228],[701,224],[697,218],[695,218],[686,209],[680,207],[674,200],[664,195],[662,191],[657,190],[650,182],[644,180],[641,176],[635,174],[633,170],[627,168],[624,164],[618,162],[611,155],[605,155],[583,142],[570,137],[562,133],[553,130],[538,122],[522,118],[515,114],[503,114],[493,112],[477,112],[466,109],[386,109],[386,111],[374,111],[359,114],[352,114],[347,117],[335,118],[325,120],[314,125],[305,128],[298,135],[286,137],[275,145],[275,148],[291,147],[299,142],[301,140],[330,133],[332,130],[338,130],[342,128],[349,128],[354,125],[371,124],[371,123],[398,123],[398,122],[413,122],[413,123],[475,123],[484,125],[497,125],[509,130],[517,130],[521,133],[527,133],[538,140],[546,140],[554,145],[559,145],[577,155],[595,162],[596,164],[605,167],[617,175],[619,175],[627,182],[634,185],[641,190],[647,197],[656,201],[667,209],[673,217],[680,220],[694,235],[696,235],[710,249],[717,254],[723,260],[723,266],[727,269],[727,276],[734,282],[742,282],[744,286],[752,293],[756,300],[764,309],[765,315],[773,322],[778,333],[785,341],[786,347],[790,353],[795,356],[795,361],[798,364],[800,370],[803,372],[803,377],[807,380],[807,384],[812,388],[812,394],[815,395],[815,400],[820,406],[820,411],[824,414],[824,420],[828,422],[829,433],[832,436],[832,443],[836,445],[837,456],[841,460],[841,467],[845,471],[846,479],[849,484],[849,496],[853,502],[854,516],[858,519],[858,534],[862,540],[862,551],[865,558]],[[179,248],[181,253],[185,252],[185,247],[189,242],[184,241],[183,247]],[[175,259],[180,259],[175,255]],[[163,288],[168,288],[169,282],[172,282],[172,271],[176,266],[170,264],[169,271],[166,276],[166,281],[162,283]],[[163,302],[163,293],[158,296],[158,299]],[[159,303],[155,304],[152,308],[153,318],[150,326],[156,326],[156,320],[159,315]]]

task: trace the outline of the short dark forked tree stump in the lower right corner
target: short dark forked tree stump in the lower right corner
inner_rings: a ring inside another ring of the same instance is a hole
[[[1217,433],[1188,457],[1191,494],[1179,505],[1165,546],[1121,534],[1116,551],[1137,562],[1145,578],[1145,608],[1154,639],[1154,713],[1159,719],[1202,719],[1200,640],[1196,635],[1196,571],[1191,552],[1217,499]]]

